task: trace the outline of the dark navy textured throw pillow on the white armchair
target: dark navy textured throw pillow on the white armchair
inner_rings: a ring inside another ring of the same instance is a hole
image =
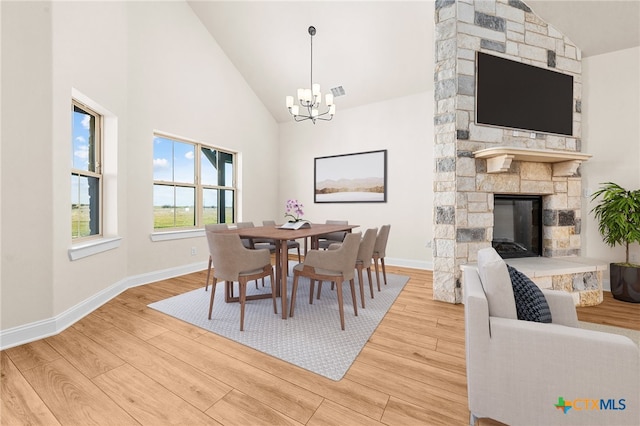
[[[507,265],[513,296],[516,301],[516,312],[519,320],[535,322],[551,322],[551,310],[542,291],[525,274]]]

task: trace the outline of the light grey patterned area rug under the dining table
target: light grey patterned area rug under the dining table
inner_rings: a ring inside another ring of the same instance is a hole
[[[242,332],[240,306],[238,303],[225,303],[224,285],[221,283],[217,285],[211,320],[207,319],[211,289],[205,292],[204,287],[152,303],[149,307],[329,379],[340,380],[408,281],[409,277],[387,274],[387,285],[381,283],[381,291],[378,292],[374,276],[375,298],[371,299],[365,277],[366,308],[362,309],[356,278],[357,317],[353,314],[349,284],[343,284],[344,331],[340,328],[336,291],[325,282],[320,300],[314,297],[310,305],[310,286],[306,278],[299,279],[293,317],[282,319],[280,298],[277,299],[278,315],[273,313],[271,298],[249,300],[245,305]],[[292,278],[289,277],[289,303],[291,284]],[[237,295],[237,283],[235,286]],[[260,284],[256,289],[254,283],[247,286],[248,295],[270,292],[269,278],[265,279],[264,287]]]

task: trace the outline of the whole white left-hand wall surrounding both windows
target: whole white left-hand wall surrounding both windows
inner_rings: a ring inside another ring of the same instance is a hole
[[[278,126],[186,3],[0,7],[3,332],[60,327],[51,319],[123,280],[206,263],[204,237],[150,240],[154,129],[240,152],[242,218],[276,214]],[[112,229],[122,237],[76,261],[67,255],[72,89],[117,117]]]

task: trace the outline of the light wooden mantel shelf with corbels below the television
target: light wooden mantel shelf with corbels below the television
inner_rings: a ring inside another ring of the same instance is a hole
[[[591,154],[584,154],[582,152],[505,146],[481,149],[480,151],[474,152],[473,156],[487,160],[488,173],[507,172],[509,171],[509,167],[511,167],[511,162],[516,160],[534,163],[552,163],[553,176],[573,176],[580,164],[591,158]]]

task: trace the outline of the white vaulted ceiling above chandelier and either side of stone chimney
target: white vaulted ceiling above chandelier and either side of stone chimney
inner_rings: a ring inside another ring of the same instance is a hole
[[[583,57],[640,45],[640,1],[525,1],[566,34]],[[342,86],[341,109],[431,89],[433,1],[188,0],[278,122],[291,120],[285,96],[314,82]]]

